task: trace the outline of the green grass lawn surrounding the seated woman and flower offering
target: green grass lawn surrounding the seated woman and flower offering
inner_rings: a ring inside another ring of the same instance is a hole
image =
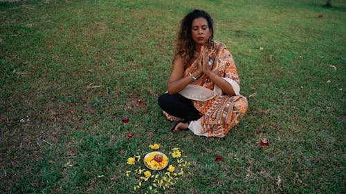
[[[0,3],[0,193],[152,192],[125,171],[154,143],[191,164],[161,193],[344,193],[346,2],[323,3]],[[223,139],[172,134],[156,102],[194,8],[214,18],[248,98]]]

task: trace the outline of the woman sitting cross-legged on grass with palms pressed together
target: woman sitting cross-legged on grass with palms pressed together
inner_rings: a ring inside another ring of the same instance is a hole
[[[248,102],[239,95],[239,77],[226,46],[213,41],[212,18],[194,10],[181,21],[168,93],[158,97],[172,131],[225,137],[246,113]]]

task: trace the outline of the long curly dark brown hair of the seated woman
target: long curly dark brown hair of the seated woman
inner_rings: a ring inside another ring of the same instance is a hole
[[[192,21],[199,17],[203,17],[208,21],[208,28],[211,30],[212,35],[210,37],[210,41],[212,41],[214,30],[212,28],[212,17],[208,12],[203,10],[193,10],[192,12],[185,15],[185,17],[181,20],[178,39],[176,40],[176,55],[181,55],[184,59],[184,66],[190,66],[190,61],[194,57],[194,40],[192,39]]]

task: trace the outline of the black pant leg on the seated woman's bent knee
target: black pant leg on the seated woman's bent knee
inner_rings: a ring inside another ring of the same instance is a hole
[[[158,105],[166,113],[185,119],[186,121],[195,121],[201,117],[199,111],[194,108],[192,100],[179,94],[169,95],[165,93],[161,95],[158,97]]]

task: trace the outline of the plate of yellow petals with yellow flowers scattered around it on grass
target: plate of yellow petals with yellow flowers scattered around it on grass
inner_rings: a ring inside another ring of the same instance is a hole
[[[149,147],[158,150],[160,145],[152,144]],[[131,169],[127,169],[125,173],[127,177],[130,175],[136,177],[134,190],[139,193],[166,193],[167,189],[174,189],[176,182],[183,177],[185,168],[190,166],[190,162],[185,161],[181,153],[179,148],[172,149],[168,155],[171,158],[159,151],[143,153],[145,155],[143,163],[138,162],[142,157],[139,151],[134,157],[129,157],[127,164]]]

